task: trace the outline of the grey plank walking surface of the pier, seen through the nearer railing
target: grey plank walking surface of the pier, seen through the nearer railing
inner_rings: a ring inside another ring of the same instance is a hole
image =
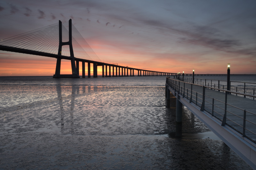
[[[182,89],[182,92],[181,92]],[[196,99],[197,92],[197,99]],[[184,83],[180,83],[180,93],[183,95],[184,93]],[[191,84],[185,83],[185,93],[184,97],[190,100],[191,97]],[[196,105],[202,105],[203,98],[203,87],[192,85],[192,102]],[[214,99],[214,105],[212,109],[212,99]],[[225,113],[225,93],[223,91],[213,90],[205,88],[205,103],[204,110],[213,113],[213,116],[217,117],[221,121],[223,120],[223,116]],[[252,139],[254,142],[256,141],[256,135],[251,133],[256,132],[256,101],[250,98],[244,98],[244,96],[236,96],[234,94],[227,95],[227,121],[226,123],[230,125],[232,128],[237,130],[238,132],[243,132],[243,124],[244,124],[244,110],[246,110],[246,136]],[[250,122],[254,123],[250,123]]]

